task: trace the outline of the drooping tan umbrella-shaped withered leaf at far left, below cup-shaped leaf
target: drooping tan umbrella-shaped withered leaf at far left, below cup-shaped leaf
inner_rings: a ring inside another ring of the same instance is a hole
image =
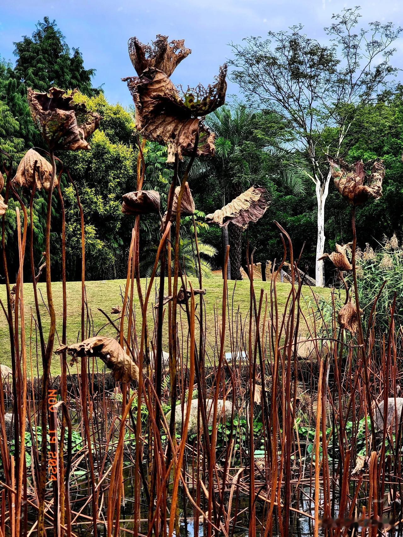
[[[34,178],[35,162],[37,166]],[[34,149],[29,149],[18,164],[13,182],[21,187],[32,188],[34,180],[38,190],[41,190],[43,186],[48,191],[52,182],[52,164]],[[53,186],[57,186],[57,177],[55,177]]]

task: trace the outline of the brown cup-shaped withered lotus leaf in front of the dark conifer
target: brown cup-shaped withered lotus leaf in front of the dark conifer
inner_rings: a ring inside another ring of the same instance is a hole
[[[57,88],[47,93],[28,88],[27,98],[34,124],[50,149],[90,149],[87,139],[98,128],[99,114]]]

